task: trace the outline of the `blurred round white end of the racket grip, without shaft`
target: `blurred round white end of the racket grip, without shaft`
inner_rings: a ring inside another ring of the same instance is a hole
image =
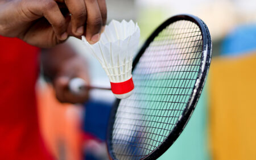
[[[73,78],[69,81],[68,88],[73,94],[80,94],[85,89],[86,82],[81,78]]]

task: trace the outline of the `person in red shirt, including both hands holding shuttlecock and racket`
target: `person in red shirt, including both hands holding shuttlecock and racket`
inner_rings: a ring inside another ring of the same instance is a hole
[[[105,24],[105,0],[0,1],[0,159],[53,159],[40,135],[36,112],[38,47],[54,47],[68,36],[81,35],[96,43]],[[44,50],[41,57],[60,102],[88,98],[88,92],[75,96],[68,90],[73,77],[88,82],[85,62],[70,47]]]

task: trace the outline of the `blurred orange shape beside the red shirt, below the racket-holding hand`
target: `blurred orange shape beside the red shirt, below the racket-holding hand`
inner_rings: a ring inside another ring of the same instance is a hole
[[[56,159],[81,159],[81,108],[58,102],[50,85],[39,87],[37,93],[40,130],[47,147]]]

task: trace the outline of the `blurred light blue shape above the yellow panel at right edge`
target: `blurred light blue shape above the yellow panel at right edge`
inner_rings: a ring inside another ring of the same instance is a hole
[[[225,37],[221,55],[238,56],[256,50],[256,24],[236,27]]]

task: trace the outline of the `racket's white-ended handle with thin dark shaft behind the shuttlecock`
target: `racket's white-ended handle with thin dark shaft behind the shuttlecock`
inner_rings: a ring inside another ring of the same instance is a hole
[[[96,87],[96,86],[89,86],[84,79],[81,78],[73,78],[68,84],[69,90],[73,94],[80,94],[80,92],[84,90],[91,90],[91,89],[98,89],[98,90],[111,90],[110,88],[105,87]]]

